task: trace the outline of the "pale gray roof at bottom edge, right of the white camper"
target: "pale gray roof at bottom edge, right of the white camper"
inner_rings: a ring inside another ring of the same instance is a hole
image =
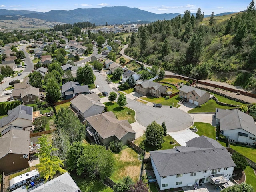
[[[68,192],[81,192],[76,182],[72,179],[68,172],[50,180],[43,185],[30,190],[30,192],[46,192],[46,191],[68,191]]]

